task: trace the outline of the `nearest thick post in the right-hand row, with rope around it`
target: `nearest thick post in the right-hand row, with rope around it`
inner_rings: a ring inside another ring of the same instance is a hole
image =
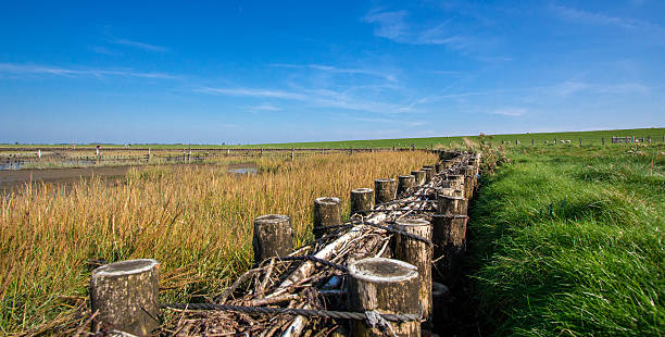
[[[418,271],[413,264],[382,258],[349,265],[349,310],[379,313],[418,313]],[[389,323],[399,337],[421,337],[421,322]],[[351,321],[351,336],[385,336],[365,321]]]

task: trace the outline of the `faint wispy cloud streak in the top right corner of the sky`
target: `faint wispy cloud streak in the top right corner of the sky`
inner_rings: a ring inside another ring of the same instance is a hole
[[[657,32],[663,32],[664,28],[657,24],[637,20],[631,17],[620,17],[620,16],[612,16],[603,13],[584,11],[579,9],[568,8],[564,5],[552,5],[552,10],[554,13],[567,21],[589,24],[589,25],[607,25],[607,26],[617,26],[622,28],[643,28],[643,29],[653,29]]]

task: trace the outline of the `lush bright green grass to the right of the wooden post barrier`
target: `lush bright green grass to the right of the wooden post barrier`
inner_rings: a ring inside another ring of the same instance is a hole
[[[665,147],[515,149],[469,223],[497,336],[665,334]]]

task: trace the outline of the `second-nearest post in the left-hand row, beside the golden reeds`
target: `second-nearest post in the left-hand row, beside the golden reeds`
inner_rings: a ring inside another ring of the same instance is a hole
[[[286,257],[293,250],[293,227],[287,215],[268,214],[254,219],[254,262]]]

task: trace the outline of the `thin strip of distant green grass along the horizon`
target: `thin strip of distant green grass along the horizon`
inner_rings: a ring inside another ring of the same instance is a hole
[[[572,145],[579,146],[579,139],[582,146],[599,146],[602,139],[605,143],[610,143],[612,136],[636,136],[651,137],[654,142],[663,142],[665,140],[665,128],[635,128],[635,129],[617,129],[617,130],[598,130],[598,132],[570,132],[570,133],[539,133],[539,134],[512,134],[512,135],[492,135],[492,141],[500,143],[507,141],[514,143],[519,140],[523,146],[530,146],[531,139],[535,145],[544,145],[544,141],[552,143],[554,139],[570,140]],[[417,148],[429,148],[431,146],[439,147],[462,147],[464,145],[462,138],[459,137],[428,137],[428,138],[400,138],[400,139],[369,139],[369,140],[346,140],[346,141],[315,141],[315,142],[285,142],[285,143],[259,143],[259,145],[242,145],[242,146],[222,146],[222,145],[181,145],[181,143],[133,143],[135,148],[152,148],[152,149],[186,149],[186,148],[407,148],[415,145]],[[475,140],[477,135],[467,136]],[[70,145],[65,145],[70,146]],[[96,145],[78,145],[77,148],[95,148]],[[63,145],[0,145],[0,147],[63,147]],[[118,148],[120,145],[104,143],[103,148]]]

